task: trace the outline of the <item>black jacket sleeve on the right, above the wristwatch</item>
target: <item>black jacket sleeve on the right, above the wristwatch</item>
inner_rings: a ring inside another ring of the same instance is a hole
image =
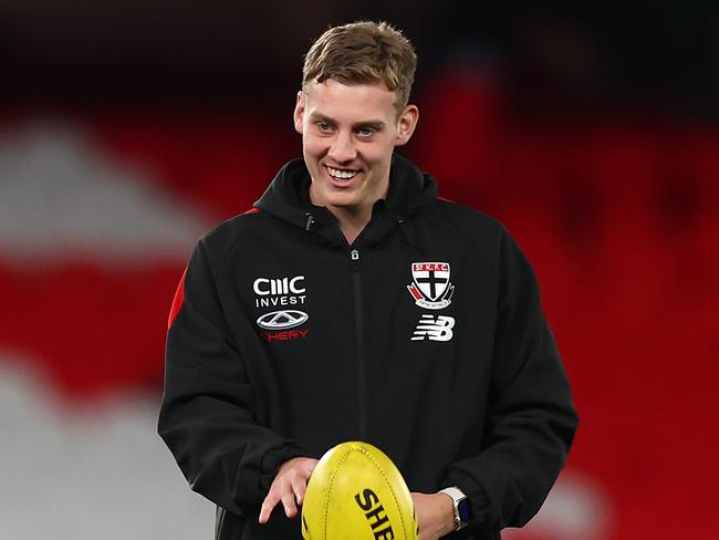
[[[450,466],[446,485],[470,498],[472,525],[521,527],[566,460],[577,416],[534,272],[502,230],[494,356],[483,450]]]

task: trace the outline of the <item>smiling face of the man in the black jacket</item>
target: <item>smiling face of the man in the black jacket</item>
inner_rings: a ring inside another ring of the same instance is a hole
[[[389,185],[395,146],[409,141],[418,112],[408,105],[397,117],[395,93],[384,83],[313,83],[298,93],[294,128],[302,134],[312,176],[310,198],[335,216],[369,216]]]

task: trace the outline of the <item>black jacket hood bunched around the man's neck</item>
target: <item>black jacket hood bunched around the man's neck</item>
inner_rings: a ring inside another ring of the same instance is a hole
[[[310,200],[310,173],[303,159],[293,159],[280,169],[254,207],[303,229],[322,226],[330,214]],[[394,154],[386,200],[375,204],[402,222],[437,197],[437,183],[411,162]],[[332,218],[331,218],[332,219]],[[326,224],[325,224],[326,225]]]

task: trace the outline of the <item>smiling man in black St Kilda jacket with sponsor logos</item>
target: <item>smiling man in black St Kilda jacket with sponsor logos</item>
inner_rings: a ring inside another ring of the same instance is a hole
[[[415,66],[385,23],[327,30],[294,110],[304,159],[178,287],[159,433],[218,539],[299,538],[316,459],[344,440],[396,463],[423,540],[499,538],[564,464],[576,416],[529,263],[394,153]]]

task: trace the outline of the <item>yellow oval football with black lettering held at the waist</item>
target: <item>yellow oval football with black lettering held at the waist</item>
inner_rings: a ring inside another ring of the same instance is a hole
[[[402,474],[382,450],[342,443],[317,463],[302,503],[305,540],[417,540]]]

